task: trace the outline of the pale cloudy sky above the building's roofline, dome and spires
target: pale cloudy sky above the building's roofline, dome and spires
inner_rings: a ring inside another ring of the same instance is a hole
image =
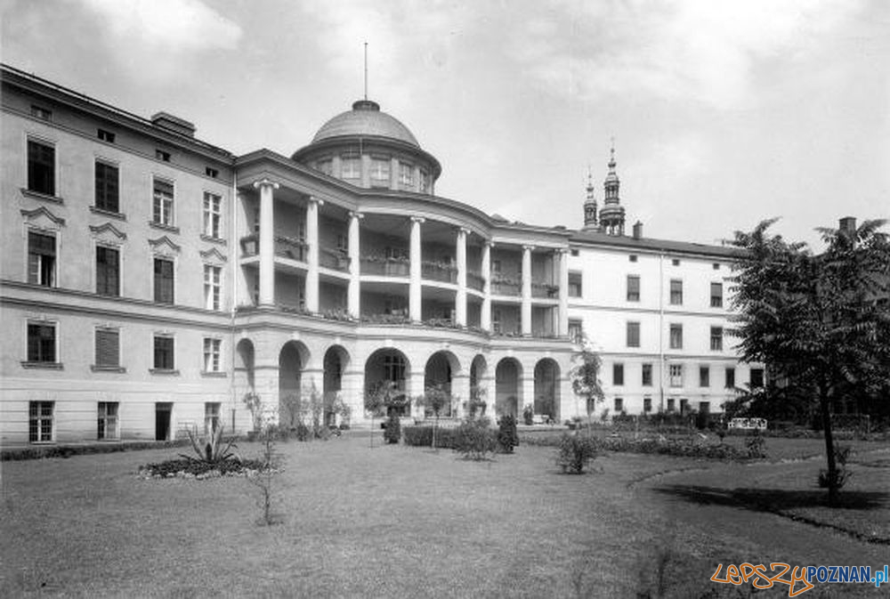
[[[0,0],[3,61],[236,154],[289,156],[363,94],[454,198],[579,227],[611,138],[627,229],[714,243],[781,216],[818,247],[890,217],[884,0]]]

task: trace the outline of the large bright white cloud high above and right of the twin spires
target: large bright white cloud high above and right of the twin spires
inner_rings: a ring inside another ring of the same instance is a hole
[[[520,67],[539,85],[583,100],[604,95],[745,105],[757,62],[793,58],[861,9],[848,0],[562,2],[512,34]],[[554,32],[554,29],[556,30]]]

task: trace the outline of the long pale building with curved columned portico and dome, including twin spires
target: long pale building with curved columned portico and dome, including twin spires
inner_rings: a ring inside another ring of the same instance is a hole
[[[723,336],[731,254],[626,236],[614,156],[584,228],[509,223],[435,195],[438,160],[373,101],[291,157],[235,156],[2,75],[0,443],[242,432],[247,393],[311,389],[363,423],[381,381],[562,420],[587,413],[582,329],[615,411],[717,410],[731,368],[748,380]]]

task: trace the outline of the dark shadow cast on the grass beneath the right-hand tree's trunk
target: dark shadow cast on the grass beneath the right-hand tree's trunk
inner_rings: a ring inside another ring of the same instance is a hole
[[[832,514],[840,514],[839,510],[868,512],[886,509],[890,505],[890,493],[884,491],[841,491],[840,501],[835,507],[829,506],[827,490],[720,489],[699,485],[667,485],[656,491],[702,506],[740,507],[754,512],[776,514],[817,528],[844,532],[868,543],[890,545],[890,538],[863,535],[843,524],[828,522]],[[817,512],[816,516],[796,513],[798,509],[814,507],[824,508],[824,511]]]

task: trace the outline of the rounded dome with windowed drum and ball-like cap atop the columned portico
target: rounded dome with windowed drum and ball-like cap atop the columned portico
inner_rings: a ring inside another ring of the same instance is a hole
[[[439,161],[417,143],[401,121],[376,101],[359,100],[352,110],[321,125],[312,142],[291,157],[356,187],[433,194]]]

